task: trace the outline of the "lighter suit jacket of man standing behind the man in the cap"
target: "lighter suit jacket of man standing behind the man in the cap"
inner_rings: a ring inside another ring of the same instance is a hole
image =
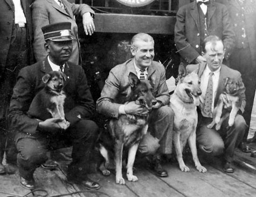
[[[44,48],[44,34],[41,31],[41,27],[53,23],[70,22],[71,33],[76,38],[73,41],[73,51],[70,57],[70,62],[78,64],[80,55],[80,45],[78,41],[78,26],[75,22],[75,16],[94,11],[86,4],[74,4],[67,0],[63,0],[66,11],[60,8],[60,6],[54,0],[36,0],[32,5],[32,20],[34,30],[34,42],[33,50],[37,61],[41,61],[47,56],[47,52]]]

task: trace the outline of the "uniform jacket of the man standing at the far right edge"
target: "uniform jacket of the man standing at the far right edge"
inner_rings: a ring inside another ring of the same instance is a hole
[[[246,37],[251,51],[252,64],[256,66],[256,2],[255,0],[246,0],[244,9],[237,0],[229,1],[229,12],[236,33],[236,47],[243,47],[242,28],[245,28]]]

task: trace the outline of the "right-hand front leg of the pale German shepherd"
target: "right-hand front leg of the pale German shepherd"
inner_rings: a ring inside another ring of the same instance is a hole
[[[197,156],[197,148],[196,148],[196,130],[191,133],[191,135],[188,138],[189,147],[193,156],[193,161],[195,163],[196,169],[199,172],[207,172],[206,168],[202,166],[199,162],[198,156]]]

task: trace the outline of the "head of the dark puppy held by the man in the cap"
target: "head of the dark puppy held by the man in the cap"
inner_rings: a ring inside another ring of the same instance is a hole
[[[44,75],[42,78],[46,87],[54,92],[61,92],[63,90],[64,81],[66,81],[66,75],[60,71],[51,71]]]

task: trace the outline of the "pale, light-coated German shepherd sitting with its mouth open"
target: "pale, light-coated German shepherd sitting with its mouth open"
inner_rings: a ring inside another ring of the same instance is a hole
[[[193,161],[199,172],[206,172],[197,157],[196,148],[196,127],[197,127],[197,106],[199,105],[200,79],[196,72],[186,75],[185,69],[179,71],[179,81],[174,93],[170,98],[170,107],[174,111],[174,147],[176,150],[179,168],[183,172],[189,172],[185,165],[182,152],[189,142]]]

